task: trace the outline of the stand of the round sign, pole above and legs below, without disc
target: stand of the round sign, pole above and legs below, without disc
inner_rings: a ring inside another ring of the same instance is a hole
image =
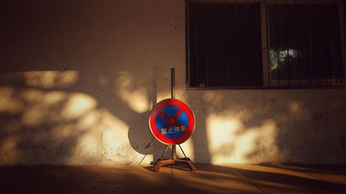
[[[172,99],[175,98],[175,72],[174,68],[171,68],[171,97]],[[165,154],[167,153],[168,147],[172,146],[172,158],[170,159],[163,159],[165,157]],[[178,144],[179,148],[183,152],[184,157],[180,159],[176,159],[176,144],[168,145],[163,152],[161,158],[157,159],[154,166],[154,171],[158,172],[160,171],[160,168],[162,166],[166,165],[172,165],[172,164],[188,164],[188,167],[190,168],[190,171],[197,171],[196,166],[194,166],[193,162],[190,158],[186,157],[183,148],[181,148],[180,144]]]

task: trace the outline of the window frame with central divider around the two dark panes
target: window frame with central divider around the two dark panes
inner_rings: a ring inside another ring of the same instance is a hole
[[[330,1],[330,0],[225,0],[224,3],[259,3],[260,4],[260,21],[261,21],[261,47],[262,47],[262,86],[190,86],[190,19],[189,17],[189,5],[190,2],[210,2],[210,0],[185,0],[185,84],[187,90],[253,90],[253,89],[309,89],[309,88],[345,88],[346,87],[346,34],[345,34],[345,17],[344,17],[344,5],[342,0]],[[218,3],[218,2],[216,2]],[[220,2],[221,3],[221,2]],[[318,4],[318,3],[331,3],[338,4],[339,15],[339,28],[340,28],[340,46],[341,46],[341,60],[343,66],[343,78],[342,79],[271,79],[269,77],[268,70],[268,45],[270,45],[270,39],[268,35],[267,23],[267,7],[271,4]],[[318,84],[310,84],[317,83]],[[280,84],[279,84],[280,83]],[[295,83],[292,85],[292,83]],[[300,84],[299,84],[300,83]],[[330,85],[319,85],[320,83],[331,83]],[[197,83],[198,84],[198,83]],[[308,85],[309,84],[309,85]]]

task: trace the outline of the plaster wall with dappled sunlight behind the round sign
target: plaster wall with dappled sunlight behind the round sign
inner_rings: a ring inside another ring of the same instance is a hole
[[[2,1],[0,164],[138,164],[149,110],[194,110],[197,163],[346,162],[346,90],[186,90],[184,1]]]

